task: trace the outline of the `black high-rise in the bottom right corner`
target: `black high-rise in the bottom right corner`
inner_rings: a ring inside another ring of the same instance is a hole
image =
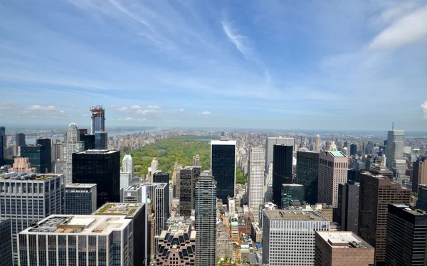
[[[427,265],[427,214],[406,205],[389,205],[386,265]]]

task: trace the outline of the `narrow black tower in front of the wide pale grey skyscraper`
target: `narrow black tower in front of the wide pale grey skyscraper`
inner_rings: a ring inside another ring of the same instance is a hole
[[[292,183],[292,146],[273,145],[273,203],[282,208],[282,184]]]

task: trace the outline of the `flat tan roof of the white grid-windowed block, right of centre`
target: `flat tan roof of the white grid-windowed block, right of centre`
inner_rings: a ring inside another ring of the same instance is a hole
[[[302,210],[271,210],[265,211],[265,216],[270,220],[312,220],[327,222],[328,220],[321,216],[317,211]]]

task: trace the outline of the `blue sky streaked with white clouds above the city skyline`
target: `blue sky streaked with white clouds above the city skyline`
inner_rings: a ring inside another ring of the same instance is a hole
[[[0,2],[0,124],[427,131],[427,1]]]

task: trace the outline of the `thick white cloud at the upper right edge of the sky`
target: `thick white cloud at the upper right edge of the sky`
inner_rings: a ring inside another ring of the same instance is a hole
[[[394,21],[369,45],[371,49],[393,49],[415,43],[427,36],[427,7]]]

